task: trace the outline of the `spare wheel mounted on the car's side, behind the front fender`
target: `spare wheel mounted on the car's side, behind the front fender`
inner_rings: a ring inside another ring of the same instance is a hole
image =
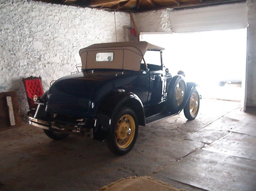
[[[167,111],[172,113],[180,112],[184,107],[184,98],[187,84],[182,75],[174,76],[168,87]]]

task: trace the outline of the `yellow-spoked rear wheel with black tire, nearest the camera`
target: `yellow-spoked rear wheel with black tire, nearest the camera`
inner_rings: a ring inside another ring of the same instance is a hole
[[[138,135],[138,118],[132,109],[122,107],[113,119],[111,130],[106,141],[110,151],[117,155],[129,153]]]

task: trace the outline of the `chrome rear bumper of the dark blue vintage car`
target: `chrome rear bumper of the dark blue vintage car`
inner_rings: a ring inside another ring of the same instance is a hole
[[[67,123],[61,121],[45,121],[36,118],[26,116],[25,119],[28,121],[29,125],[36,126],[49,131],[54,131],[58,133],[88,136],[93,138],[93,128],[88,127],[86,122],[77,123]]]

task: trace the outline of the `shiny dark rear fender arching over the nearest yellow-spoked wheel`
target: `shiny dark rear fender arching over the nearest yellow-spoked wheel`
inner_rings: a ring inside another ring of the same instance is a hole
[[[116,115],[121,107],[129,107],[137,117],[139,125],[145,126],[145,113],[139,97],[131,92],[124,90],[109,93],[99,104],[96,124],[94,126],[93,138],[105,140],[111,130],[111,119]]]

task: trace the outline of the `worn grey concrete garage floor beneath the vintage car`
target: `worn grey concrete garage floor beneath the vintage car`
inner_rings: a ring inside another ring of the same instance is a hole
[[[0,132],[0,190],[84,190],[149,175],[191,191],[256,190],[256,112],[232,101],[201,100],[183,113],[140,126],[133,150],[112,154],[104,142],[69,136],[52,141],[22,123]]]

